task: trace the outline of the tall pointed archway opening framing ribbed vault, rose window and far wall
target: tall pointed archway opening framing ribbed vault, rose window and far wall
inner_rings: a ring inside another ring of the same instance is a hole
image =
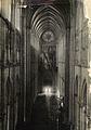
[[[43,87],[64,92],[65,79],[65,22],[54,5],[41,5],[31,18],[31,47],[38,52],[38,93]],[[64,84],[64,83],[63,83]]]

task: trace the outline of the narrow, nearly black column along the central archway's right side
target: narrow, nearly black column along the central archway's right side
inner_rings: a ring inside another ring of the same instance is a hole
[[[66,28],[66,54],[65,54],[65,121],[69,118],[69,34],[70,28]]]

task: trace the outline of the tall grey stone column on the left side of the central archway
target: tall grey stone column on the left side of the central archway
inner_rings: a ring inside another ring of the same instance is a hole
[[[26,9],[22,9],[21,15],[21,120],[26,120]]]

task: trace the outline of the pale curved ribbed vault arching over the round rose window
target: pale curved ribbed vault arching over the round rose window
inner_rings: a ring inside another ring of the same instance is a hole
[[[31,20],[31,28],[41,37],[42,32],[50,29],[57,38],[58,35],[64,34],[65,24],[58,12],[52,5],[42,5],[34,14]]]

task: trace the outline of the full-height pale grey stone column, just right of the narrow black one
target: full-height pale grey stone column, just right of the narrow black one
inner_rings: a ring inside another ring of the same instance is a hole
[[[69,122],[75,129],[75,41],[76,40],[76,3],[70,9],[70,47],[69,47]]]

